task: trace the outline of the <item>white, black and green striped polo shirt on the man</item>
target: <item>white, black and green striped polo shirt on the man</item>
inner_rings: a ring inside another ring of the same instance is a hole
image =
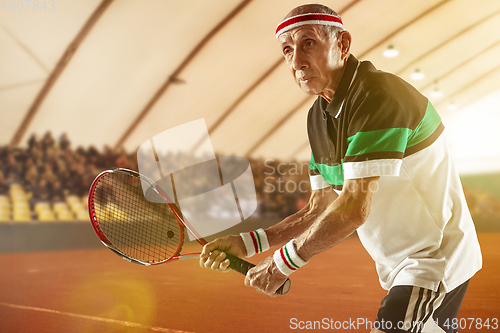
[[[384,289],[447,291],[482,266],[481,251],[439,114],[403,79],[350,56],[330,103],[309,110],[313,190],[380,176],[357,229]]]

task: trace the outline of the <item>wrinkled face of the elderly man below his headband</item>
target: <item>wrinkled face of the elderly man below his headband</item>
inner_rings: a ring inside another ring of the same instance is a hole
[[[286,63],[299,87],[310,95],[333,96],[343,61],[337,38],[321,27],[305,25],[279,36]]]

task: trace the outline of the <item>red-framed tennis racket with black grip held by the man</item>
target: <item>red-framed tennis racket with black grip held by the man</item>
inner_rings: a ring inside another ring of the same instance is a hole
[[[141,183],[148,186],[146,194]],[[198,259],[200,253],[181,254],[185,229],[200,245],[207,243],[167,193],[136,171],[116,168],[100,173],[90,187],[88,203],[97,237],[127,261],[154,266]],[[255,266],[229,253],[226,258],[230,261],[229,267],[243,275]],[[287,279],[276,293],[286,294],[290,284]]]

